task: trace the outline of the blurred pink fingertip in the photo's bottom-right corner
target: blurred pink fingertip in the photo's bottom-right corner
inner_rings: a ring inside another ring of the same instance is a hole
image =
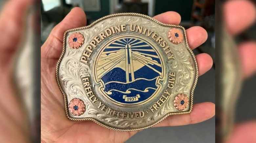
[[[235,125],[226,143],[256,142],[256,121]]]

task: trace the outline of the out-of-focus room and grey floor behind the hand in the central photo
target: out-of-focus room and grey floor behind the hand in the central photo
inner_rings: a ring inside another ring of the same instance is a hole
[[[87,25],[114,13],[135,12],[151,17],[166,11],[181,15],[181,24],[186,29],[198,25],[207,33],[207,41],[194,50],[195,55],[208,53],[215,59],[215,1],[214,0],[41,0],[41,42],[47,39],[52,28],[74,7],[83,8]],[[214,67],[201,76],[194,92],[194,103],[215,103]],[[183,137],[186,135],[186,137]],[[130,138],[127,143],[148,142],[215,142],[215,118],[199,124],[149,128]]]

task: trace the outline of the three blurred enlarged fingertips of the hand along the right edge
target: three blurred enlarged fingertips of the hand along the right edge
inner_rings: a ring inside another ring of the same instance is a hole
[[[224,20],[228,32],[235,36],[255,22],[255,5],[245,0],[232,0],[224,4]],[[249,78],[256,71],[256,43],[245,42],[238,45],[243,77]],[[228,143],[256,142],[256,121],[248,121],[234,126]]]

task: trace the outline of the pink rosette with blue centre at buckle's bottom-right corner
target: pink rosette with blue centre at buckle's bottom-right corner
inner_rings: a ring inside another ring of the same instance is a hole
[[[175,109],[184,110],[189,104],[188,97],[187,95],[180,93],[175,96],[173,103]]]

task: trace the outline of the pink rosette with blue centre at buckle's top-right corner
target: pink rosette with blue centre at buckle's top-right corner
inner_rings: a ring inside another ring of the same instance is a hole
[[[169,40],[174,44],[179,44],[183,41],[183,34],[181,30],[177,28],[172,28],[168,32]]]

